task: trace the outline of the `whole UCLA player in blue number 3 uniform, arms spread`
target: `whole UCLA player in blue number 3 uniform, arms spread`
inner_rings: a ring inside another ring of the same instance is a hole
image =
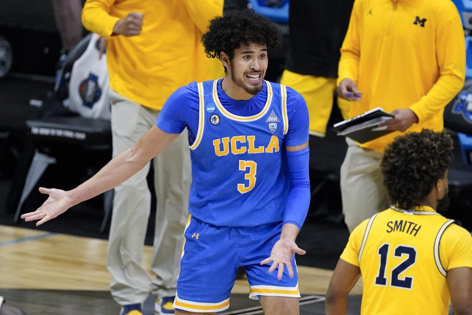
[[[186,128],[192,187],[176,314],[227,309],[240,266],[265,314],[299,314],[295,252],[305,251],[295,238],[310,200],[309,122],[297,92],[264,80],[267,48],[280,42],[279,30],[252,10],[212,20],[203,43],[224,78],[179,88],[135,146],[75,189],[40,188],[49,198],[22,218],[39,225],[113,188]]]

